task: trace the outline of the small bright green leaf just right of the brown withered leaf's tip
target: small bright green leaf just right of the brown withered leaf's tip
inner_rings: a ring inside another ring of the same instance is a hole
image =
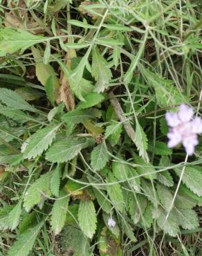
[[[80,102],[77,105],[77,109],[88,109],[89,107],[93,107],[102,100],[104,100],[104,95],[102,93],[89,93],[84,97],[85,102]]]

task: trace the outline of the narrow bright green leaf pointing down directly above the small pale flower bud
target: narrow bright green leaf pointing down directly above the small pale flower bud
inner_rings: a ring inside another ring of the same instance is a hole
[[[111,185],[107,183],[115,183],[115,184]],[[122,196],[122,190],[121,190],[120,184],[117,183],[117,179],[113,176],[111,172],[108,173],[107,183],[106,183],[107,193],[109,194],[109,197],[111,199],[111,202],[113,203],[114,208],[122,212],[125,204]]]

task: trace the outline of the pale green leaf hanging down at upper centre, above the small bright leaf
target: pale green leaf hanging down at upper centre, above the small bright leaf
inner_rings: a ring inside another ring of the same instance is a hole
[[[111,69],[107,67],[108,63],[100,54],[98,48],[93,48],[92,75],[97,81],[95,91],[100,93],[109,86],[112,77]]]

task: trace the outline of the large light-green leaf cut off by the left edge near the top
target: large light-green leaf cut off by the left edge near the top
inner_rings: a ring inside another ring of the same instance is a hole
[[[21,29],[1,28],[0,34],[0,57],[15,53],[19,50],[23,52],[26,48],[47,40],[46,37],[33,35]]]

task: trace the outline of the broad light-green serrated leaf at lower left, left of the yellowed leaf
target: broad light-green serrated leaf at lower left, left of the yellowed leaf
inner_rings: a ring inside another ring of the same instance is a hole
[[[30,188],[28,188],[24,196],[24,208],[28,212],[34,205],[42,201],[44,195],[50,196],[50,179],[53,172],[47,172],[37,179]]]

